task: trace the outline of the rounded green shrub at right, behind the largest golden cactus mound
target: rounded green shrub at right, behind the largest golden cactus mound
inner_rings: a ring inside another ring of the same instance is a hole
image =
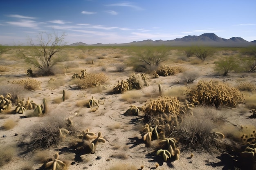
[[[239,60],[234,56],[227,57],[222,60],[218,60],[216,63],[216,71],[222,73],[223,76],[228,75],[230,71],[238,71]]]

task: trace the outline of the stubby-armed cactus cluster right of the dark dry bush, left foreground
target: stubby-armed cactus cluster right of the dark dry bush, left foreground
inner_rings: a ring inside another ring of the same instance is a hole
[[[101,136],[101,132],[96,135],[94,132],[90,132],[89,129],[82,130],[82,134],[78,137],[82,141],[77,142],[74,148],[84,153],[95,153],[97,144],[106,142]]]

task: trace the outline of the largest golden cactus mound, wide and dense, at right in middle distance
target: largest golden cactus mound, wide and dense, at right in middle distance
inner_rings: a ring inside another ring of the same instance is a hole
[[[195,105],[215,107],[236,107],[243,102],[244,96],[237,88],[222,82],[200,81],[187,94],[188,101]]]

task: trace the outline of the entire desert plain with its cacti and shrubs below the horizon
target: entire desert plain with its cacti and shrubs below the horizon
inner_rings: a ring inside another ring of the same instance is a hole
[[[255,46],[0,51],[2,170],[256,169]]]

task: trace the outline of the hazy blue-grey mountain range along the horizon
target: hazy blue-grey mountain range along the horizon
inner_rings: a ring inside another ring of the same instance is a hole
[[[230,47],[242,47],[242,46],[255,46],[256,40],[248,42],[240,37],[232,37],[229,39],[220,38],[214,33],[204,33],[202,35],[188,35],[183,38],[176,38],[174,40],[143,40],[133,41],[129,43],[121,44],[86,44],[83,42],[76,42],[70,44],[70,46],[230,46]]]

